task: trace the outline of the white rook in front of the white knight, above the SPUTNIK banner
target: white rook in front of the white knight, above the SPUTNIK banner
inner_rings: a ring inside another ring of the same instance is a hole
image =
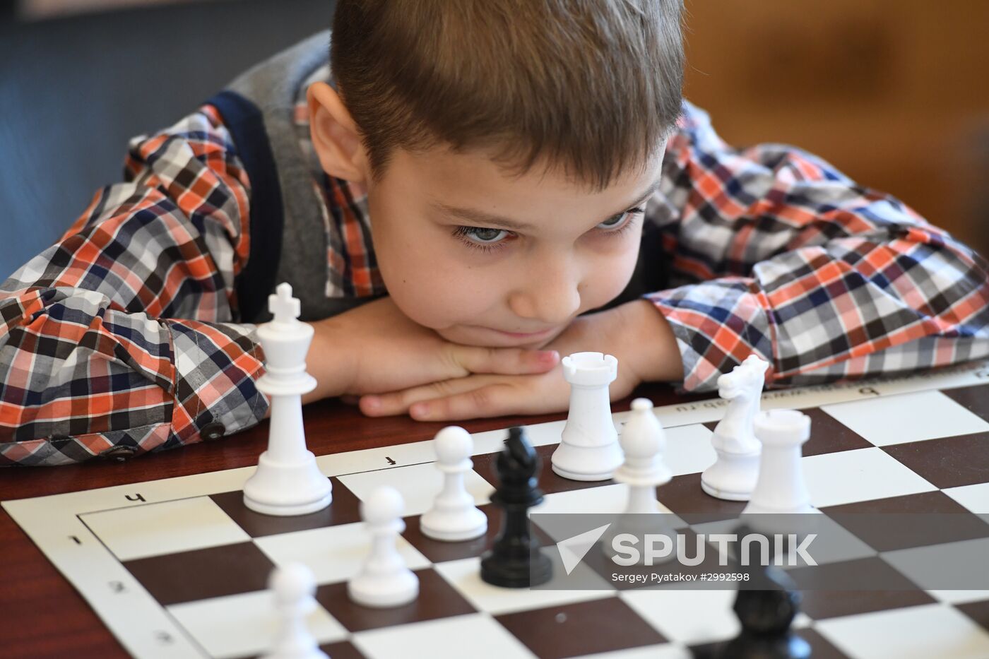
[[[763,455],[759,481],[742,514],[813,513],[800,461],[800,447],[810,438],[810,417],[796,410],[770,410],[760,414],[755,425]]]

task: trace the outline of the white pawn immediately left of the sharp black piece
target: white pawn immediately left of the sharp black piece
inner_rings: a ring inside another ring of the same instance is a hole
[[[458,542],[488,531],[488,518],[474,505],[464,488],[464,474],[471,470],[474,441],[459,425],[444,427],[433,440],[436,468],[443,472],[443,489],[433,507],[419,518],[422,534],[435,540]]]

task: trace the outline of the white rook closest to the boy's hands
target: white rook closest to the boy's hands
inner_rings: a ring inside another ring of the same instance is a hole
[[[575,352],[563,358],[563,376],[570,383],[570,413],[553,452],[553,471],[575,481],[606,481],[623,460],[608,395],[618,377],[618,360]]]

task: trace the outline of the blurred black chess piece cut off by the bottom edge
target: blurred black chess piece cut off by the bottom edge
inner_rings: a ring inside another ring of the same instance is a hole
[[[752,533],[743,526],[736,530],[741,539]],[[790,629],[793,618],[800,611],[800,593],[793,580],[778,567],[750,560],[741,564],[736,545],[738,570],[749,575],[749,580],[739,586],[733,610],[742,623],[742,631],[720,648],[720,659],[807,659],[810,645]]]

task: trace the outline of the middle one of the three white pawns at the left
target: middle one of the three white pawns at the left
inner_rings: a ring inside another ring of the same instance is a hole
[[[365,607],[401,607],[419,594],[419,579],[405,567],[395,546],[405,530],[402,520],[405,502],[395,488],[382,486],[361,502],[361,518],[371,531],[371,552],[347,583],[350,599]]]

